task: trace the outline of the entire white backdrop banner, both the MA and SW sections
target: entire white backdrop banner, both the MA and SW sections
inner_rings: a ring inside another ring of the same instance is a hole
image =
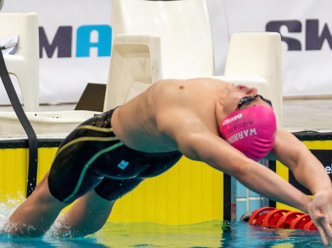
[[[5,2],[2,11],[31,11],[38,15],[41,103],[77,102],[88,82],[106,83],[111,53],[110,1]],[[279,32],[283,41],[283,94],[332,94],[329,69],[332,66],[332,2],[207,2],[216,74],[223,74],[231,34]],[[0,86],[0,94],[4,96],[0,98],[0,104],[9,103],[3,86]]]

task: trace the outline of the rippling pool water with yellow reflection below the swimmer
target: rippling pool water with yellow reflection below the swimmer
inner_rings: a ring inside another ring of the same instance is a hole
[[[18,201],[0,203],[0,229]],[[52,229],[57,228],[56,225]],[[0,235],[0,247],[326,247],[317,231],[267,229],[241,222],[210,221],[172,226],[156,223],[106,223],[82,238],[56,238],[52,229],[40,238]]]

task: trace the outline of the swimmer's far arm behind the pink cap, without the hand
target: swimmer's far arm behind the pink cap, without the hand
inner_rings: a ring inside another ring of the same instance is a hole
[[[322,163],[292,133],[277,130],[273,153],[294,174],[297,181],[313,194],[331,190],[331,181]]]

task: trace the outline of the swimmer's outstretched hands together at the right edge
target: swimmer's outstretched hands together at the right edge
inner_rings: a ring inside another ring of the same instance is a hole
[[[313,201],[309,204],[308,211],[322,237],[323,243],[327,245],[328,239],[332,244],[332,190],[317,192]]]

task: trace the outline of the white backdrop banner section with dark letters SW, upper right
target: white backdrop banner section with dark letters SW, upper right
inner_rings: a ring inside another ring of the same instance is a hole
[[[224,0],[234,32],[279,32],[283,95],[332,95],[332,2],[329,0]]]

